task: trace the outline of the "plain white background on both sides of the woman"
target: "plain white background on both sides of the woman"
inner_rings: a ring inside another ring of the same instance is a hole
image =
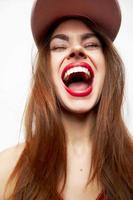
[[[115,45],[125,63],[124,119],[133,135],[133,1],[119,0],[123,19]],[[0,151],[23,140],[21,120],[29,91],[35,44],[33,0],[0,0]]]

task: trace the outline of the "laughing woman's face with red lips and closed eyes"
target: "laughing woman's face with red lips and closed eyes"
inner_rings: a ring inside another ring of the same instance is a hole
[[[50,67],[61,105],[86,113],[98,102],[105,77],[101,43],[82,21],[62,22],[50,40]]]

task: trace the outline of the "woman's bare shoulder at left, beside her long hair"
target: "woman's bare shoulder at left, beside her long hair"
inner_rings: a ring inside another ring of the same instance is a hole
[[[25,144],[19,144],[0,152],[0,199],[3,199],[6,183],[24,149]]]

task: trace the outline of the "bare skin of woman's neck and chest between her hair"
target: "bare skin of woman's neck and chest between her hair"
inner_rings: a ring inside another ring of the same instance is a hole
[[[69,116],[69,120],[66,118],[63,120],[63,124],[67,131],[67,155],[68,155],[68,168],[67,168],[67,182],[63,191],[63,198],[65,200],[96,200],[101,193],[102,188],[98,186],[97,182],[89,184],[86,188],[88,181],[90,164],[91,164],[91,140],[88,139],[93,129],[94,120],[91,116],[82,119],[81,116],[75,117]],[[64,115],[63,114],[63,115]],[[83,122],[81,122],[83,120]],[[80,122],[80,123],[79,123]],[[89,123],[88,123],[89,122]],[[81,135],[82,134],[82,135]]]

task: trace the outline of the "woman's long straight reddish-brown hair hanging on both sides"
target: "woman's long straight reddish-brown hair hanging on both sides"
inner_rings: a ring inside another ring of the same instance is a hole
[[[99,27],[87,19],[78,19],[97,34],[106,61],[102,94],[94,108],[96,122],[88,184],[96,178],[107,200],[132,200],[133,142],[122,118],[123,63]],[[38,47],[24,118],[25,148],[8,182],[10,186],[15,180],[11,200],[57,200],[58,184],[63,179],[63,191],[66,183],[66,134],[48,66],[49,38],[56,26]]]

